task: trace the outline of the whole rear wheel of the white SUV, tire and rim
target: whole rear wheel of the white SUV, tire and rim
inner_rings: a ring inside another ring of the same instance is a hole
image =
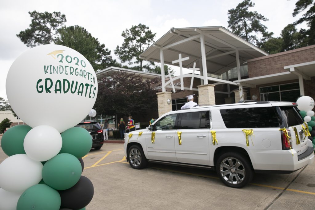
[[[249,158],[235,152],[221,154],[216,162],[216,171],[221,181],[233,188],[244,187],[254,176]]]

